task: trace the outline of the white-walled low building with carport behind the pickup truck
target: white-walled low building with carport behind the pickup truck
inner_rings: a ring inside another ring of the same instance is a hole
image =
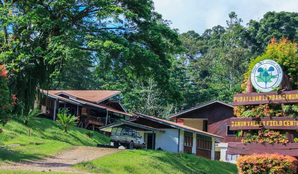
[[[173,121],[139,113],[134,115],[137,117],[99,129],[111,132],[113,126],[131,127],[139,131],[147,149],[161,148],[170,152],[194,153],[212,160],[215,158],[215,139],[223,138]]]

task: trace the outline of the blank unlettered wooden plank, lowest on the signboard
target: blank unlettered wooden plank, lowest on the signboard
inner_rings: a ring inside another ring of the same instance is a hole
[[[264,153],[298,156],[298,143],[277,144],[277,143],[228,143],[226,154],[229,155],[252,155]]]

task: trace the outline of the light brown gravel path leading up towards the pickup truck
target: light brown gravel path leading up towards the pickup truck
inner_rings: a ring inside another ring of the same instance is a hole
[[[83,161],[100,158],[102,156],[119,152],[120,149],[99,148],[88,146],[75,146],[74,149],[66,150],[55,156],[49,156],[39,160],[10,162],[0,165],[0,170],[33,170],[33,171],[55,171],[87,173],[84,170],[75,169],[70,166]]]

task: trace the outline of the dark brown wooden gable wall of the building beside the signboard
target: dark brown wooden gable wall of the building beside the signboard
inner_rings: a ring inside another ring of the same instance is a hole
[[[236,136],[227,136],[226,127],[230,124],[230,118],[234,116],[232,107],[220,103],[213,103],[206,107],[202,107],[184,114],[177,118],[207,118],[208,132],[224,137],[221,139],[222,143],[227,142],[241,142],[241,138],[236,140]]]

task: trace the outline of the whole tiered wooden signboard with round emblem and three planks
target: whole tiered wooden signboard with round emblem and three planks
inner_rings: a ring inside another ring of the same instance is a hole
[[[273,92],[280,90],[277,92]],[[273,60],[264,60],[255,64],[247,80],[247,88],[244,94],[236,94],[232,105],[259,105],[259,104],[290,104],[298,103],[298,90],[292,90],[288,76],[283,73],[280,65]],[[258,92],[258,93],[257,93]],[[246,109],[253,106],[246,107]],[[249,117],[231,118],[229,130],[243,130],[242,136],[256,133],[254,130],[285,130],[288,143],[228,143],[227,154],[250,155],[253,153],[279,153],[282,155],[298,156],[298,117],[287,117],[283,111],[283,117]],[[250,133],[250,134],[249,134]],[[263,135],[262,135],[263,136]],[[260,137],[262,138],[262,137]],[[262,139],[263,140],[263,139]],[[264,142],[264,141],[263,141]],[[272,141],[276,142],[276,141]]]

